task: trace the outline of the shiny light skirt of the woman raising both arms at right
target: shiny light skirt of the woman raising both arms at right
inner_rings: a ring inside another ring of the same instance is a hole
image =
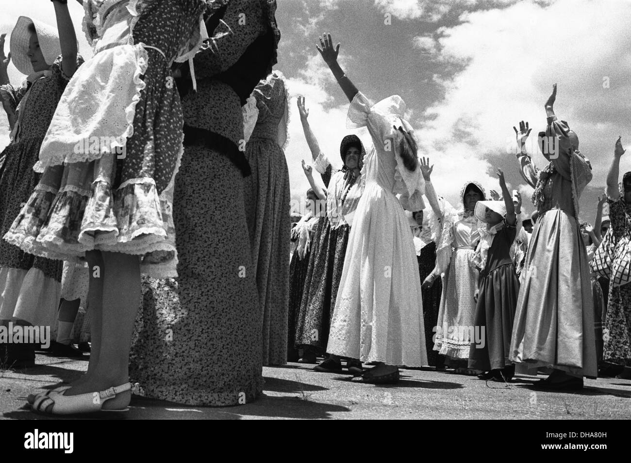
[[[574,217],[553,209],[537,220],[522,278],[510,360],[595,377],[592,285]]]

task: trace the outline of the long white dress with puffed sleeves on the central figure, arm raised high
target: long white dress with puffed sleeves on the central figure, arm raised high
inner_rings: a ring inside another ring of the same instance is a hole
[[[421,210],[425,183],[410,172],[392,128],[403,121],[398,95],[375,105],[357,93],[348,127],[367,126],[375,148],[364,160],[365,189],[353,217],[327,352],[391,365],[427,364],[423,303],[410,224],[403,207]],[[401,202],[395,195],[401,194]]]

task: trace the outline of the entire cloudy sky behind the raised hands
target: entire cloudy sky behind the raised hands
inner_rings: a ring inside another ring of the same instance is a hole
[[[2,8],[0,29],[8,33],[19,15],[54,24],[49,2],[3,2]],[[81,8],[71,4],[71,9],[81,52],[90,56]],[[508,152],[512,126],[527,120],[536,137],[556,82],[555,111],[577,132],[594,168],[581,198],[581,216],[593,222],[616,137],[622,135],[631,147],[630,17],[628,0],[279,0],[277,68],[292,97],[286,148],[292,197],[308,188],[300,160],[310,157],[297,95],[305,96],[315,135],[340,167],[339,141],[350,133],[348,101],[315,50],[318,35],[330,32],[342,44],[343,69],[367,97],[403,97],[419,155],[435,164],[435,187],[453,203],[469,179],[498,189],[494,171],[501,167],[509,188],[525,193],[524,209],[533,210],[532,189]],[[20,80],[13,66],[9,75]],[[0,141],[6,143],[6,121],[2,124]],[[371,144],[365,129],[355,133]],[[531,153],[543,167],[543,156]],[[623,171],[631,170],[627,156]]]

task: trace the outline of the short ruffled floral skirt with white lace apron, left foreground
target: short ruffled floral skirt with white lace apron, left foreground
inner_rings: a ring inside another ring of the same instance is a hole
[[[61,260],[89,250],[154,253],[141,258],[151,265],[174,260],[172,187],[184,148],[169,82],[160,52],[141,45],[83,64],[42,142],[35,167],[42,179],[5,239]],[[154,276],[175,276],[175,265]]]

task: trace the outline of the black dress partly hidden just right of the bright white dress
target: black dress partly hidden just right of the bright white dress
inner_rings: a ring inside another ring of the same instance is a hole
[[[416,256],[416,260],[418,260],[418,274],[421,277],[421,284],[423,284],[423,281],[425,281],[436,265],[436,243],[432,241],[425,245],[421,250],[421,254]],[[440,363],[439,353],[433,350],[433,337],[436,334],[434,328],[438,322],[442,279],[435,279],[432,287],[421,291],[423,294],[423,322],[425,322],[427,361],[431,366],[437,366]]]

